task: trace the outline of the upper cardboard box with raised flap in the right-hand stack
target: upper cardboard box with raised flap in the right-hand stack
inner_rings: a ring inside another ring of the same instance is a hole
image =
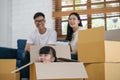
[[[104,27],[79,32],[78,60],[84,63],[120,62],[120,42],[105,41]]]

